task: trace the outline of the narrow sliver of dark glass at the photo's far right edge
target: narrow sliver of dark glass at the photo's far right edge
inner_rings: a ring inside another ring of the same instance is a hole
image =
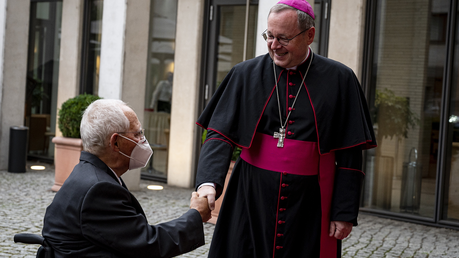
[[[446,175],[443,218],[459,222],[459,20],[456,21],[456,40],[452,72],[451,104],[446,129]]]

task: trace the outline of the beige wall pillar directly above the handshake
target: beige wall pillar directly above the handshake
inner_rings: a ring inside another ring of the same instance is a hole
[[[170,185],[193,187],[204,0],[178,0],[168,161]]]

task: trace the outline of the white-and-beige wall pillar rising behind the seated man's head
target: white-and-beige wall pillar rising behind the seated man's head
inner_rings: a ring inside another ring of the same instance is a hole
[[[121,99],[143,124],[143,93],[148,58],[150,0],[116,0],[104,4],[99,96]],[[138,190],[140,169],[122,176]]]

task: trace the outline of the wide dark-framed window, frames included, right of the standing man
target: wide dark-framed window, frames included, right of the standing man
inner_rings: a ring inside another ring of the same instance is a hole
[[[459,225],[459,32],[452,31],[452,6],[368,3],[364,81],[378,148],[366,155],[365,210]]]

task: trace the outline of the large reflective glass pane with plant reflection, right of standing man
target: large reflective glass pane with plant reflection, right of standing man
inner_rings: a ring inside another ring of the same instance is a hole
[[[448,5],[378,1],[364,207],[434,216]]]

